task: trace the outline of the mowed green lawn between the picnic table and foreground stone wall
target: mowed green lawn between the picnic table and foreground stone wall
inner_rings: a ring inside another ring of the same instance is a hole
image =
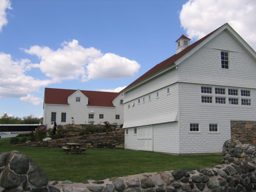
[[[51,181],[81,182],[89,178],[100,180],[146,172],[207,168],[221,164],[221,154],[173,156],[156,152],[87,149],[84,155],[66,154],[61,148],[18,147],[0,139],[0,153],[16,150],[29,156],[43,168]]]

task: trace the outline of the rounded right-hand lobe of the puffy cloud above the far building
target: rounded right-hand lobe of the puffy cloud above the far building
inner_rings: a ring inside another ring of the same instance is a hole
[[[113,53],[94,59],[87,66],[88,79],[132,78],[138,73],[140,65]]]

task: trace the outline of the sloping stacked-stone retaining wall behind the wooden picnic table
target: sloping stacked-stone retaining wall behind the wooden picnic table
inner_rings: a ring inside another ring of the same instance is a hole
[[[83,148],[124,149],[124,129],[119,128],[104,133],[93,133],[90,135],[67,137],[50,141],[20,143],[16,144],[16,146],[61,148],[65,146],[65,143],[80,143],[83,145]]]

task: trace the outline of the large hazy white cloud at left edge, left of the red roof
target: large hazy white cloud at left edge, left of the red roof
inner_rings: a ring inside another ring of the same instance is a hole
[[[29,63],[28,59],[12,61],[10,55],[0,53],[0,98],[24,97],[51,83],[51,80],[39,80],[25,75]]]

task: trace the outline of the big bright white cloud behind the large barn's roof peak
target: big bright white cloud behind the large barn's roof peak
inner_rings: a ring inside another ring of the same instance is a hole
[[[255,0],[189,0],[180,12],[188,37],[198,40],[228,23],[256,50]]]

